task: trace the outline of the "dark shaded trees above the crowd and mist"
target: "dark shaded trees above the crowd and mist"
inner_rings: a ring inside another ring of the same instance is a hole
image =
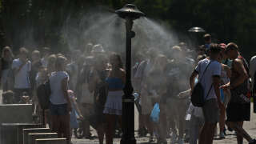
[[[112,11],[126,3],[174,30],[180,41],[190,38],[190,27],[201,26],[213,42],[236,42],[247,60],[256,52],[255,0],[0,0],[0,45],[67,51],[62,35],[67,18],[76,26],[92,9]],[[90,38],[79,41],[78,48],[87,42]]]

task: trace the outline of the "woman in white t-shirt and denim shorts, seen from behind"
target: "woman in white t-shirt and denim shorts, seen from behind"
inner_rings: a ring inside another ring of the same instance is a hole
[[[50,75],[50,115],[52,129],[58,138],[66,138],[70,144],[70,111],[71,102],[68,96],[69,75],[66,73],[66,58],[58,56],[55,62],[56,71]]]

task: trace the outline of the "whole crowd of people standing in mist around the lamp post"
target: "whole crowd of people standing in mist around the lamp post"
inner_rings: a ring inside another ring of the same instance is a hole
[[[250,121],[250,100],[254,95],[256,57],[250,66],[234,42],[215,44],[210,34],[205,44],[190,50],[186,43],[142,50],[134,56],[132,82],[137,106],[138,136],[158,144],[213,143],[214,135],[225,138],[226,129],[234,130],[238,144],[245,138],[256,143],[242,128]],[[31,53],[24,47],[14,56],[10,46],[2,49],[0,60],[3,103],[33,103],[34,115],[71,142],[72,129],[79,127],[85,138],[112,144],[122,128],[122,95],[126,68],[122,55],[88,43],[84,50],[53,54],[48,47]],[[38,86],[50,85],[50,108],[43,111],[38,103]],[[190,95],[200,82],[204,105],[194,106]],[[254,99],[255,100],[255,99]],[[158,104],[158,121],[152,111]],[[42,118],[42,113],[46,118]],[[217,134],[219,123],[219,134]]]

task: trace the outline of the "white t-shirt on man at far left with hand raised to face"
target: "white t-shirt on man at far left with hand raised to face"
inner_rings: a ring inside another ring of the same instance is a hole
[[[17,70],[20,66],[22,66],[22,61],[19,58],[14,59],[11,68]],[[22,66],[22,69],[19,70],[18,73],[14,76],[15,89],[30,88],[30,70],[31,70],[31,62],[28,61],[24,66]]]

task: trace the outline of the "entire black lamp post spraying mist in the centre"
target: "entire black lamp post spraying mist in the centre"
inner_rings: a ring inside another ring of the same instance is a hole
[[[121,144],[135,144],[134,138],[134,96],[132,95],[134,88],[131,84],[131,38],[135,33],[132,31],[133,21],[144,16],[136,6],[127,4],[120,10],[115,11],[120,18],[126,20],[126,85],[123,89],[122,97],[122,139]]]

